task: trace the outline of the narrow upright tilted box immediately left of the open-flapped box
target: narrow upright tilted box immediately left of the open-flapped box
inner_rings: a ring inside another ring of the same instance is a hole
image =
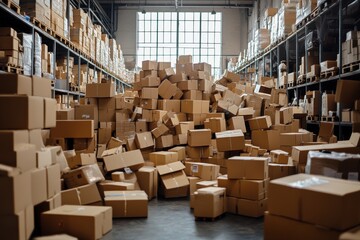
[[[146,192],[149,200],[155,198],[158,191],[158,173],[156,168],[144,166],[136,172],[136,177],[140,189]]]

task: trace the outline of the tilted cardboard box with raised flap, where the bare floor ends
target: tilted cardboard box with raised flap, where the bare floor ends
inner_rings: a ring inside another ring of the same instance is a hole
[[[183,171],[185,166],[181,162],[157,166],[161,178],[160,193],[165,198],[185,197],[189,191],[189,180]]]

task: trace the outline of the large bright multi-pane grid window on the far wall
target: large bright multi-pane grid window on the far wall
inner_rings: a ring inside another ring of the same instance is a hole
[[[193,62],[207,62],[213,75],[221,74],[221,13],[138,13],[137,66],[143,60],[176,62],[192,55]]]

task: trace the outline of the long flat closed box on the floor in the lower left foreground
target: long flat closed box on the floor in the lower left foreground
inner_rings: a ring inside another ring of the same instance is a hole
[[[100,239],[112,229],[112,208],[64,205],[42,213],[41,233]]]

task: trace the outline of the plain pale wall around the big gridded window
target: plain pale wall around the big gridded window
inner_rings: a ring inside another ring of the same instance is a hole
[[[142,9],[141,9],[142,10]],[[131,58],[127,56],[136,55],[136,15],[139,9],[136,10],[119,10],[118,29],[115,33],[116,40],[121,44],[123,54],[127,58],[128,68],[133,68]],[[146,11],[157,11],[158,9],[146,9]],[[202,11],[212,11],[212,8],[201,9]],[[161,11],[167,11],[161,8]],[[168,9],[174,11],[174,8]],[[200,11],[200,9],[185,9],[181,11]],[[247,47],[247,11],[245,9],[215,9],[217,12],[222,12],[223,26],[222,26],[222,55],[224,56],[238,56],[240,51]]]

